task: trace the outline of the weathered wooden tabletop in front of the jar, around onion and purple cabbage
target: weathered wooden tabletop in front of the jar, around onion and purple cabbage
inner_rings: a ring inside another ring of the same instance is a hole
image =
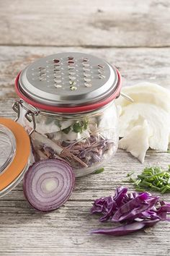
[[[150,154],[144,166],[161,162],[166,168],[169,154],[153,151]],[[122,158],[124,160],[120,165]],[[123,184],[121,180],[132,168],[138,174],[143,165],[119,150],[104,173],[77,179],[70,200],[59,210],[47,214],[37,213],[30,208],[19,184],[0,200],[0,254],[169,255],[170,223],[158,223],[148,234],[140,231],[121,238],[89,234],[91,229],[107,226],[100,224],[97,216],[90,215],[92,200],[110,195],[117,185]]]

